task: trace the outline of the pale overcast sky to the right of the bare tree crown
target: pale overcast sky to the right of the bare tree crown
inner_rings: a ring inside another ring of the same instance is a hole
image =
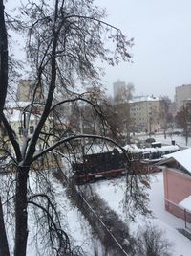
[[[135,38],[134,63],[105,66],[109,93],[113,82],[135,84],[137,95],[168,95],[191,83],[191,0],[96,0],[107,20]]]

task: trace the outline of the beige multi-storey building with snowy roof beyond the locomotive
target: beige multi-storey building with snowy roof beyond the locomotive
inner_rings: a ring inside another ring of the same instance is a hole
[[[139,96],[129,101],[131,129],[154,132],[164,127],[162,102],[154,96]]]

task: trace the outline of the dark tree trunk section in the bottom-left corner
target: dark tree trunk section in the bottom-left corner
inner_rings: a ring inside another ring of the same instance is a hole
[[[0,255],[10,256],[8,240],[6,236],[5,223],[3,218],[3,207],[0,198]]]

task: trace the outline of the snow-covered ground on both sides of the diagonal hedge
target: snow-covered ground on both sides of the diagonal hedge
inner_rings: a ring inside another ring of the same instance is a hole
[[[99,196],[105,199],[108,205],[117,212],[123,221],[128,220],[128,217],[123,212],[121,203],[125,190],[124,177],[110,181],[100,181],[92,184],[92,186],[96,189]],[[91,240],[91,231],[88,228],[87,221],[81,217],[78,210],[66,198],[63,186],[54,180],[53,187],[56,193],[59,211],[62,213],[62,223],[65,226],[65,230],[73,237],[73,244],[81,246],[87,252],[84,256],[93,256],[94,247],[98,246],[98,244],[94,244]],[[156,225],[165,231],[166,238],[173,243],[173,256],[190,256],[191,241],[177,230],[177,228],[184,228],[184,221],[164,210],[162,173],[152,175],[149,198],[150,209],[153,211],[154,217],[138,216],[134,224],[130,223],[132,233],[135,233],[139,227],[143,227],[146,224]],[[29,246],[27,255],[36,255],[33,247]]]

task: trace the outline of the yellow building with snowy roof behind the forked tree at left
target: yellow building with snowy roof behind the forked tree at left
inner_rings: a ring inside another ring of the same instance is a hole
[[[6,105],[4,109],[5,116],[14,131],[14,138],[18,142],[21,151],[27,146],[26,142],[30,143],[36,125],[41,116],[41,109],[34,109],[34,112],[28,112],[27,106],[30,102],[14,102]],[[52,133],[51,133],[52,132]],[[56,137],[53,136],[53,118],[47,119],[45,125],[41,130],[41,135],[36,144],[35,150],[42,151],[55,143]],[[11,141],[9,140],[8,133],[4,126],[0,128],[0,160],[2,161],[1,168],[5,166],[9,170],[14,170],[15,164],[12,159],[15,157]],[[58,155],[56,157],[59,157]],[[32,164],[32,169],[40,170],[56,168],[57,163],[61,164],[60,158],[54,159],[52,152],[47,153],[45,157],[39,158]]]

